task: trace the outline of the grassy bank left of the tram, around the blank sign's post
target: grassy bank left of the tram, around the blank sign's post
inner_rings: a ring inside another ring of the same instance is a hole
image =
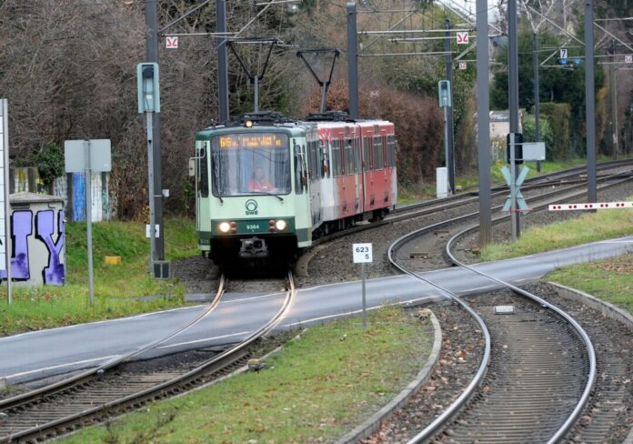
[[[156,280],[148,274],[149,244],[145,224],[102,222],[93,224],[95,305],[89,307],[87,239],[85,224],[65,226],[66,284],[63,287],[14,286],[11,306],[0,296],[0,334],[52,328],[119,318],[136,313],[183,305],[183,298],[139,301],[131,296],[182,297],[185,288],[176,280]],[[194,223],[186,219],[166,220],[166,257],[176,260],[197,254]],[[106,265],[106,256],[121,256],[122,264]]]

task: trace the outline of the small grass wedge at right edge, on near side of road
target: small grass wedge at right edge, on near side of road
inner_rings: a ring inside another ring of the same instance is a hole
[[[560,268],[548,280],[584,291],[633,314],[633,255]]]

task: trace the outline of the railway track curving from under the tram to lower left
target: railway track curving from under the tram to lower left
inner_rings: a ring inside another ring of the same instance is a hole
[[[216,308],[223,283],[214,302],[203,315],[166,338],[75,378],[0,401],[0,443],[38,442],[72,432],[75,429],[116,417],[147,402],[164,399],[200,387],[243,367],[256,341],[275,327],[286,315],[295,297],[294,279],[288,272],[288,290],[281,308],[264,326],[242,342],[222,352],[190,352],[185,365],[139,366],[130,362],[142,352],[155,348],[168,338],[190,328]],[[139,369],[139,367],[142,367]]]

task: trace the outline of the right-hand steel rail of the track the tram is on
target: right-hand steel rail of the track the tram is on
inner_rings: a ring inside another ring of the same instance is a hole
[[[55,419],[45,424],[37,425],[35,428],[25,429],[8,437],[0,438],[0,442],[12,442],[15,440],[29,439],[34,436],[41,436],[45,430],[54,430],[67,425],[81,421],[84,422],[90,418],[106,416],[108,412],[115,411],[116,409],[125,409],[126,405],[131,403],[143,403],[146,399],[160,399],[163,395],[170,390],[176,388],[176,386],[185,386],[193,383],[197,378],[202,378],[204,374],[216,371],[219,368],[230,366],[246,354],[246,348],[251,346],[258,338],[265,336],[272,328],[275,328],[276,324],[286,316],[287,310],[292,307],[296,296],[296,287],[292,272],[288,271],[288,279],[290,281],[290,289],[286,291],[286,298],[281,308],[276,312],[276,315],[268,320],[264,326],[251,333],[244,341],[236,344],[232,348],[226,349],[224,352],[206,361],[204,364],[187,371],[185,374],[170,379],[168,381],[157,384],[155,387],[145,389],[137,393],[128,395],[121,399],[107,402],[103,405],[96,406],[93,409],[86,409],[83,412],[75,413],[74,415],[67,416],[61,419]],[[63,433],[62,433],[63,434]],[[57,435],[56,433],[54,435]],[[35,438],[36,439],[36,438]]]

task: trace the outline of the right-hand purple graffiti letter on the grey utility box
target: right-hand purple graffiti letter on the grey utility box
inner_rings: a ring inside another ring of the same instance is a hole
[[[65,268],[59,263],[62,248],[64,248],[64,217],[60,211],[57,215],[58,232],[57,242],[53,241],[55,232],[55,211],[39,211],[35,215],[35,237],[46,244],[48,248],[48,267],[42,270],[45,284],[64,285]]]

